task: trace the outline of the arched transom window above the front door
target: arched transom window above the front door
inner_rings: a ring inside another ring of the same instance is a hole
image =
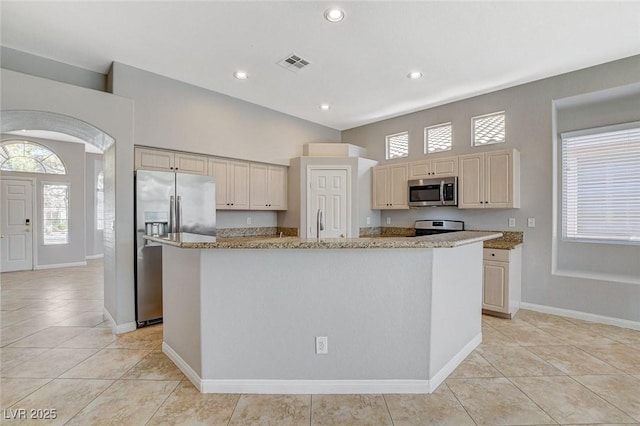
[[[0,170],[3,172],[66,175],[62,160],[49,148],[35,142],[10,140],[0,144]]]

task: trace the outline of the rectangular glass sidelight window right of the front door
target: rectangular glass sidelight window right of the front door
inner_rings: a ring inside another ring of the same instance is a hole
[[[69,185],[44,184],[42,196],[44,244],[68,244]]]

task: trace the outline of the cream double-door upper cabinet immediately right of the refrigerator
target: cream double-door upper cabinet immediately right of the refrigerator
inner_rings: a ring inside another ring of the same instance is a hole
[[[216,209],[249,210],[250,163],[209,159],[209,175],[216,179]]]

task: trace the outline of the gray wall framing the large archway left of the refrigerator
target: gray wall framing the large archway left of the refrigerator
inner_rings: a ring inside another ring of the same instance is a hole
[[[117,326],[135,326],[132,249],[133,102],[119,96],[6,69],[0,70],[0,83],[0,106],[3,111],[47,111],[73,117],[97,127],[116,140],[104,156],[107,219],[104,233],[104,303]]]

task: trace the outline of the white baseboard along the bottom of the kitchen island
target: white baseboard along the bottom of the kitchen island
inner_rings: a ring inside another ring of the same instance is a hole
[[[166,342],[164,352],[202,393],[253,394],[428,394],[455,370],[482,342],[482,334],[475,336],[431,380],[251,380],[202,379]]]

